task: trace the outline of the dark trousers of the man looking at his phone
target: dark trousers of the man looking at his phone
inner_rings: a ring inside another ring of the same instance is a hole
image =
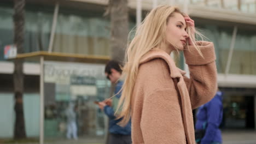
[[[108,144],[131,144],[131,135],[109,134]]]

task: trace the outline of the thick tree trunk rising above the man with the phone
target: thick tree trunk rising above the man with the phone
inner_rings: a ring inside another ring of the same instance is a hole
[[[109,0],[111,58],[124,63],[128,37],[127,0]]]

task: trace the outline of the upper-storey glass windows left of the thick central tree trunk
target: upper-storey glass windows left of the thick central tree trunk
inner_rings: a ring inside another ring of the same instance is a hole
[[[50,8],[49,8],[50,9]],[[52,10],[26,9],[24,52],[48,51]],[[5,45],[13,44],[13,8],[0,7],[1,53]],[[88,12],[89,13],[89,12]],[[96,15],[70,14],[60,9],[57,18],[53,52],[109,56],[109,21]],[[1,57],[3,60],[3,57]]]

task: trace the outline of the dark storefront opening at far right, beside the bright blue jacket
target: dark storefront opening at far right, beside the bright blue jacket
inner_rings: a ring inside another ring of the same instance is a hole
[[[255,88],[222,87],[222,129],[255,129]]]

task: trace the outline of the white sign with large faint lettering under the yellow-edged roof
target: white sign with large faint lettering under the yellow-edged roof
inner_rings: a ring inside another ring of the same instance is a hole
[[[104,64],[45,61],[44,82],[95,85],[96,79],[106,80],[104,70]]]

